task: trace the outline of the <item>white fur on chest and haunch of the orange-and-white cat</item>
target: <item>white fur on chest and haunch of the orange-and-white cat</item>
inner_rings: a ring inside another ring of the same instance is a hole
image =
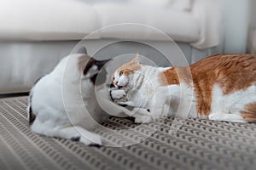
[[[160,116],[201,117],[196,111],[196,98],[193,86],[181,82],[179,85],[160,85],[160,72],[168,68],[157,68],[143,65],[128,77],[115,77],[119,83],[125,81],[128,101],[119,101],[120,104],[135,105],[141,109],[132,115],[136,122],[151,122]],[[114,75],[119,75],[115,72]],[[192,84],[192,83],[191,83]],[[128,97],[129,96],[129,97]],[[209,119],[227,122],[246,122],[240,111],[245,105],[256,102],[255,85],[244,91],[224,95],[217,84],[212,90],[212,108]],[[150,113],[144,109],[149,109]]]

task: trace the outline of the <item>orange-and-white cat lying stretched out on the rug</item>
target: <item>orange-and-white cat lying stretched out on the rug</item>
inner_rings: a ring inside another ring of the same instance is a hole
[[[168,68],[142,65],[136,56],[114,71],[112,78],[111,94],[117,96],[113,98],[117,103],[148,109],[137,110],[132,115],[135,122],[176,113],[256,122],[256,56],[251,54],[217,54],[188,67]]]

